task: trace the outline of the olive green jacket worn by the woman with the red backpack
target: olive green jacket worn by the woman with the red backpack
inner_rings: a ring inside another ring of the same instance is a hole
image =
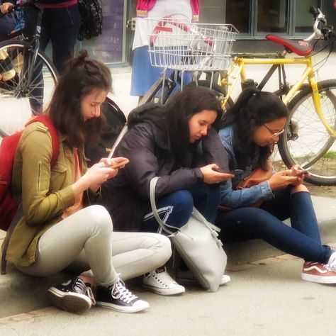
[[[63,211],[74,203],[71,187],[74,183],[73,152],[66,137],[60,134],[59,137],[60,155],[51,171],[52,140],[43,123],[28,125],[18,143],[12,193],[18,202],[22,201],[22,217],[13,230],[6,254],[6,259],[13,264],[33,264],[40,236],[60,221]],[[79,162],[84,172],[84,152],[79,153]],[[89,193],[84,196],[85,202]]]

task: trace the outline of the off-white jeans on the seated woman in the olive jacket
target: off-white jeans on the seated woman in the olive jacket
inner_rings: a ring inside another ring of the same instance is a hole
[[[157,269],[171,254],[167,237],[113,232],[108,211],[103,206],[88,206],[43,233],[36,262],[17,268],[31,276],[50,276],[71,264],[91,268],[96,282],[108,286],[118,274],[127,280]]]

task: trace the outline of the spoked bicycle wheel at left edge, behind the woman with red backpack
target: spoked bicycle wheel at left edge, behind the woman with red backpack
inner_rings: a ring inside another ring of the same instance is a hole
[[[39,51],[35,62],[29,43],[4,41],[0,53],[0,135],[11,135],[34,114],[42,113],[50,102],[57,82],[57,71],[44,52]],[[11,73],[4,80],[2,74]],[[30,81],[30,82],[29,82]]]

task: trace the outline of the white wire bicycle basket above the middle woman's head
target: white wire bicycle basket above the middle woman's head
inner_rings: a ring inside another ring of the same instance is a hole
[[[153,67],[181,71],[227,69],[237,29],[230,24],[190,23],[171,16],[147,18]]]

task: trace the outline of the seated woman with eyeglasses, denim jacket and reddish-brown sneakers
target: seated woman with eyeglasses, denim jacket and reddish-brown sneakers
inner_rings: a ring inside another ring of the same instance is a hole
[[[250,188],[240,188],[255,169],[264,176],[274,142],[284,132],[288,109],[275,94],[246,89],[225,114],[219,132],[230,169],[240,169],[220,186],[222,211],[215,225],[223,242],[262,239],[304,259],[301,278],[322,284],[336,283],[336,252],[322,245],[313,204],[302,184],[307,172],[300,167],[273,173]],[[282,222],[291,219],[291,226]]]

